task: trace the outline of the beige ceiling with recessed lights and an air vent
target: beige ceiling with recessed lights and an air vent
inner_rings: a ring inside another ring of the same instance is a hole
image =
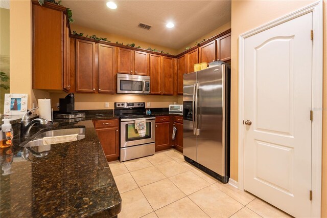
[[[188,45],[231,18],[230,0],[114,2],[115,10],[106,7],[107,1],[97,0],[62,0],[62,5],[72,9],[76,25],[172,49]],[[166,28],[168,21],[175,27]],[[152,28],[141,29],[139,23]]]

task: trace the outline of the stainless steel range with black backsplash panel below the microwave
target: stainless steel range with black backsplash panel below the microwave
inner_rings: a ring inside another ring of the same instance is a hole
[[[115,102],[114,114],[120,116],[120,161],[154,155],[155,116],[146,114],[145,103]],[[145,134],[135,128],[135,121],[140,119],[145,119]]]

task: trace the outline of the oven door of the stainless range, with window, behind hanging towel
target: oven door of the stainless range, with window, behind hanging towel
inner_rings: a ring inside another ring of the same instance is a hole
[[[146,134],[138,135],[134,120],[121,121],[121,148],[155,142],[155,119],[146,119]]]

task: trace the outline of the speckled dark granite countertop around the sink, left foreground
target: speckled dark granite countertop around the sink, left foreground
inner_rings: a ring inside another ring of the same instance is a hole
[[[79,141],[39,146],[40,152],[35,152],[35,149],[20,147],[24,140],[15,133],[14,145],[0,149],[1,217],[111,217],[121,211],[120,193],[92,118],[59,123],[51,128],[85,127],[85,138]],[[117,118],[112,115],[101,117]],[[45,130],[49,129],[40,131]],[[47,156],[37,157],[46,150]],[[26,154],[28,158],[22,158]],[[4,175],[3,169],[8,165],[11,173]]]

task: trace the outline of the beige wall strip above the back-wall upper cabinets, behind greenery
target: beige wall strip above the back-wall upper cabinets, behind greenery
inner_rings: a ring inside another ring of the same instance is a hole
[[[71,31],[72,31],[72,33],[73,33],[73,31],[76,31],[77,33],[83,33],[84,34],[83,36],[97,35],[97,37],[107,38],[107,40],[111,41],[112,43],[116,43],[116,41],[118,41],[119,43],[123,43],[124,45],[127,45],[128,43],[129,44],[135,43],[135,47],[141,46],[142,49],[146,49],[146,48],[150,47],[151,49],[157,49],[159,51],[164,50],[164,52],[169,52],[172,55],[177,54],[177,50],[175,50],[175,49],[158,46],[158,45],[154,45],[154,44],[151,44],[151,43],[148,43],[145,41],[140,41],[140,40],[136,40],[136,39],[125,37],[125,36],[115,35],[112,33],[102,32],[102,31],[87,28],[87,27],[82,27],[82,26],[76,25],[74,23],[71,24]]]

